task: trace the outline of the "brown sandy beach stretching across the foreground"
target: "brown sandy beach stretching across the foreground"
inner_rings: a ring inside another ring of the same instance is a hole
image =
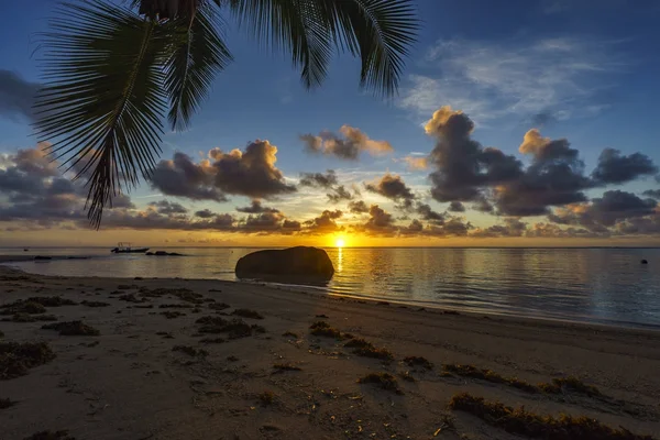
[[[16,300],[54,296],[76,304],[21,315],[56,321],[13,321],[25,304]],[[519,438],[450,407],[460,393],[660,432],[660,332],[256,284],[46,277],[7,267],[0,305],[0,343],[45,342],[54,354],[23,375],[0,371],[0,402],[11,403],[0,409],[1,439],[45,430],[78,440]],[[76,320],[99,334],[42,329]],[[392,376],[369,383],[371,373]],[[552,388],[553,378],[571,376],[584,388]]]

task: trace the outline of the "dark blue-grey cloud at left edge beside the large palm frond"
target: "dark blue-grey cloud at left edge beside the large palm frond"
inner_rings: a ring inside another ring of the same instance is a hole
[[[30,82],[10,70],[0,69],[0,117],[8,119],[34,116],[32,106],[40,85]]]

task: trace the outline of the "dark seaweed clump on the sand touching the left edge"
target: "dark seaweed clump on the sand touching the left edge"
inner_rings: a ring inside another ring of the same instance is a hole
[[[54,359],[55,353],[45,342],[1,342],[0,381],[24,376],[30,369]]]

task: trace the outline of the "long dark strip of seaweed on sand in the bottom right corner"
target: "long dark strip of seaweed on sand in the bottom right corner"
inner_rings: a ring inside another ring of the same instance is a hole
[[[652,440],[651,436],[639,436],[619,427],[610,428],[598,420],[562,414],[559,417],[541,416],[513,408],[499,402],[488,402],[469,393],[454,395],[449,407],[469,413],[486,424],[504,429],[509,433],[553,440]]]

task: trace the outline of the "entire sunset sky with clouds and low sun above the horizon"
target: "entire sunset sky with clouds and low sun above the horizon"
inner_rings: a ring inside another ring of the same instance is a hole
[[[228,18],[234,62],[99,231],[31,127],[54,4],[0,16],[0,246],[660,245],[658,1],[418,0],[392,99],[346,54],[308,91]]]

